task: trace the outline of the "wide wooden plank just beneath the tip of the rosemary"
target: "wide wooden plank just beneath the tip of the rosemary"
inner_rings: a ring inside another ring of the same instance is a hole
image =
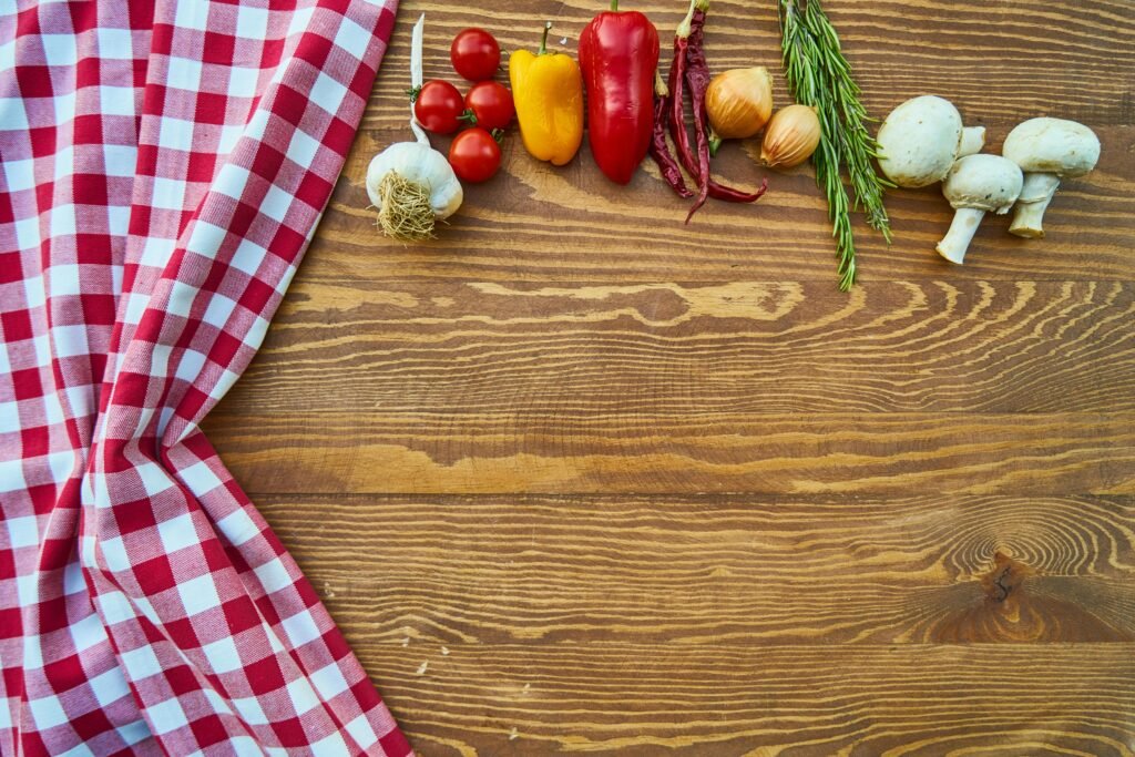
[[[227,407],[1129,411],[1133,294],[1056,281],[893,283],[847,296],[818,281],[304,280]]]

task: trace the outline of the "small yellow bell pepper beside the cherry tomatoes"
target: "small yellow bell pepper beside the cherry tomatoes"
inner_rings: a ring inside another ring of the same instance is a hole
[[[548,30],[536,54],[518,50],[508,59],[508,79],[524,148],[537,160],[564,166],[583,142],[583,77],[568,54],[548,50]]]

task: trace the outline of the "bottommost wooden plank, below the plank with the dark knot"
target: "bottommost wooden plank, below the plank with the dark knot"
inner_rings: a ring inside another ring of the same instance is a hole
[[[1135,751],[1135,645],[356,645],[429,755]]]

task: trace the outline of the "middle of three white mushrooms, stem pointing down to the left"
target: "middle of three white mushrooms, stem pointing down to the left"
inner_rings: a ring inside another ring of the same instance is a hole
[[[942,184],[956,212],[938,253],[960,266],[985,213],[1009,212],[1024,180],[1017,163],[1000,155],[967,155],[956,162]]]

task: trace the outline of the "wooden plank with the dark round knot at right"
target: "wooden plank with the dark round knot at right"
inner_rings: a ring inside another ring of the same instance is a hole
[[[260,504],[356,642],[1135,641],[1130,498]]]

